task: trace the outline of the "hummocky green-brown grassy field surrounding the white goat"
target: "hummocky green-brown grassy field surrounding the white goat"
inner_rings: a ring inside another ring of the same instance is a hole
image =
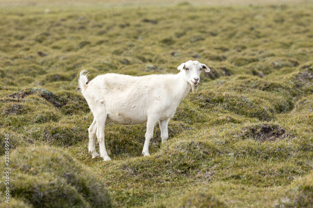
[[[70,2],[1,1],[1,207],[313,206],[313,3]],[[109,124],[113,161],[92,159],[79,72],[178,73],[187,60],[211,72],[167,144],[156,124],[142,157],[145,124]]]

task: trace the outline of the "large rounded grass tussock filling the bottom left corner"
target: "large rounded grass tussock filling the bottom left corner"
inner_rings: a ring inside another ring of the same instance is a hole
[[[10,162],[10,195],[16,206],[111,207],[103,181],[61,149],[18,148]]]

